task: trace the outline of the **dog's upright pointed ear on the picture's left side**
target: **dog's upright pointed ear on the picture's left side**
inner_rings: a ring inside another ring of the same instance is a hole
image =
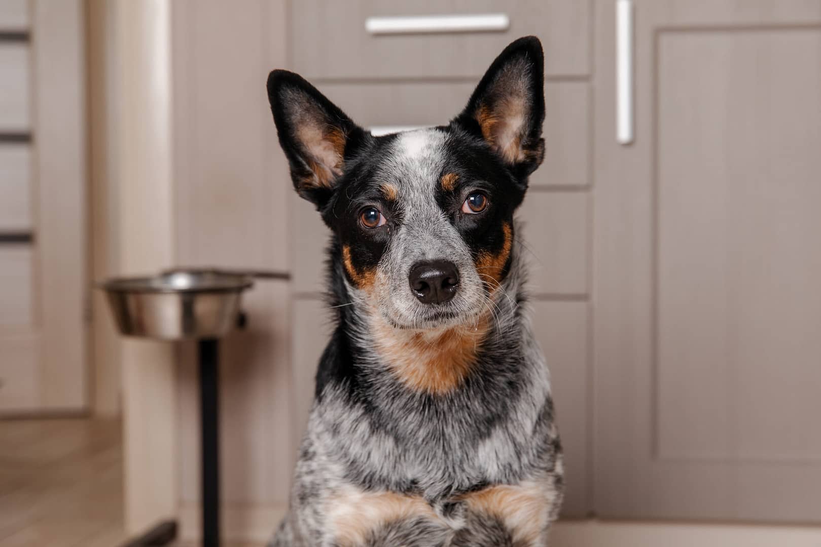
[[[366,138],[365,131],[293,72],[268,75],[268,102],[294,188],[323,207],[342,176],[346,157]]]

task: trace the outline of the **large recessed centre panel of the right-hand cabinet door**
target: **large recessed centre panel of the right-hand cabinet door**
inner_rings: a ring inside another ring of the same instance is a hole
[[[660,457],[821,456],[818,51],[821,29],[658,41]]]

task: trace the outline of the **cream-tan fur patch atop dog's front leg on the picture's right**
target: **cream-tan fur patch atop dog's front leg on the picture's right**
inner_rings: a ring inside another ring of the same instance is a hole
[[[544,545],[556,492],[547,482],[490,486],[461,496],[471,511],[498,518],[516,545]]]

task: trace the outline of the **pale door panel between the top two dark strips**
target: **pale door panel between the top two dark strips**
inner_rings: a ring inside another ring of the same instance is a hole
[[[0,42],[0,132],[29,130],[29,60],[28,44]]]

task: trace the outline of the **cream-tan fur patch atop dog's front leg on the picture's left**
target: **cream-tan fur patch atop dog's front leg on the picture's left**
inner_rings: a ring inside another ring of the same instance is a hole
[[[363,545],[369,533],[389,522],[427,517],[443,522],[424,499],[395,492],[365,492],[344,486],[326,501],[334,545]]]

